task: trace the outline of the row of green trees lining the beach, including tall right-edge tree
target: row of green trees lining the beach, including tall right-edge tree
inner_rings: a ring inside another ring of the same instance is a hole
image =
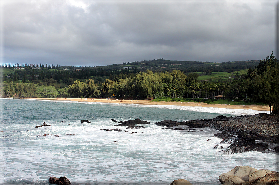
[[[86,70],[85,70],[86,71]],[[226,98],[244,101],[263,102],[269,105],[270,113],[278,113],[279,108],[279,64],[273,55],[261,60],[259,65],[247,74],[236,74],[226,83],[199,81],[198,74],[184,74],[179,70],[170,72],[121,73],[114,78],[95,83],[87,71],[87,79],[58,78],[55,75],[44,77],[39,83],[22,83],[14,77],[10,83],[2,83],[1,95],[4,97],[82,97],[107,98],[112,94],[117,97],[146,99],[148,97],[185,97],[185,98]],[[60,72],[59,72],[60,73]],[[78,75],[77,72],[73,72]],[[58,73],[56,75],[59,75]],[[15,75],[16,76],[16,75]],[[61,76],[62,77],[62,76]],[[60,79],[58,83],[58,80]],[[273,107],[273,109],[272,109]]]

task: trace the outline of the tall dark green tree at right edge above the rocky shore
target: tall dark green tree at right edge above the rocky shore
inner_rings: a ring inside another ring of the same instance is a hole
[[[253,101],[267,103],[270,114],[278,114],[279,110],[279,63],[273,55],[248,72],[248,94]]]

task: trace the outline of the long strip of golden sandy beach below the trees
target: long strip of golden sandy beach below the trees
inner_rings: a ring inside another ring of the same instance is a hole
[[[102,103],[134,103],[141,105],[177,105],[177,106],[200,106],[200,107],[217,107],[225,109],[249,109],[253,111],[269,111],[268,106],[262,105],[225,105],[225,104],[206,104],[192,102],[151,102],[151,100],[120,100],[115,99],[81,99],[81,98],[26,98],[36,100],[55,100],[55,101],[72,101],[72,102],[102,102]]]

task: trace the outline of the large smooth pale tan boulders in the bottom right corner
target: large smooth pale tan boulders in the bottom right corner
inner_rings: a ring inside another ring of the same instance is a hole
[[[278,185],[279,173],[268,169],[257,170],[249,166],[236,166],[219,176],[222,185]]]

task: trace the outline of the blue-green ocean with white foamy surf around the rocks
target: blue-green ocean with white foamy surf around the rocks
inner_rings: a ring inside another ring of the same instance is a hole
[[[0,184],[47,185],[51,176],[66,176],[72,185],[168,185],[181,178],[217,185],[237,165],[275,171],[272,153],[219,155],[215,129],[187,133],[154,124],[260,112],[266,111],[0,98]],[[151,124],[126,129],[111,121],[137,118]],[[34,128],[44,122],[51,126]],[[116,128],[122,131],[100,130]]]

